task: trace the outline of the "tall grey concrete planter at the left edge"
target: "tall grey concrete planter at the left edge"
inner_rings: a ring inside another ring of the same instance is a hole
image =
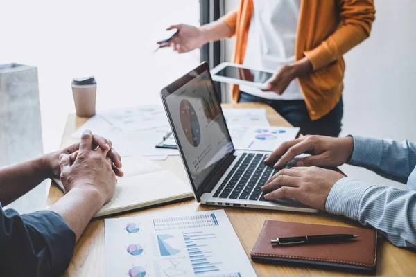
[[[43,153],[37,69],[0,64],[0,166]]]

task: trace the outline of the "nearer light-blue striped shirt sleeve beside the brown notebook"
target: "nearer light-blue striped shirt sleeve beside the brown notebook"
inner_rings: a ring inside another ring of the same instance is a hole
[[[325,209],[373,226],[398,247],[416,248],[416,191],[344,177],[333,185]]]

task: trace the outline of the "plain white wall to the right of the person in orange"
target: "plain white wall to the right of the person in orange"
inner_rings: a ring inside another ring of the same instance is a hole
[[[227,1],[226,10],[238,5]],[[376,1],[369,39],[345,55],[343,132],[416,141],[416,1]],[[232,60],[234,41],[228,41]],[[403,188],[374,173],[343,166],[347,175]]]

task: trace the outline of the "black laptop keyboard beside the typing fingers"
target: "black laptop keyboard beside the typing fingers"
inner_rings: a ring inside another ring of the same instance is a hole
[[[261,186],[277,170],[272,166],[266,166],[264,159],[266,159],[266,154],[243,153],[213,196],[268,201],[263,197]]]

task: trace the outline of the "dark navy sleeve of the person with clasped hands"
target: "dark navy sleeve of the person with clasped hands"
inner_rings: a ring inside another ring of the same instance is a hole
[[[19,215],[0,204],[0,276],[59,276],[69,266],[75,242],[57,213]]]

